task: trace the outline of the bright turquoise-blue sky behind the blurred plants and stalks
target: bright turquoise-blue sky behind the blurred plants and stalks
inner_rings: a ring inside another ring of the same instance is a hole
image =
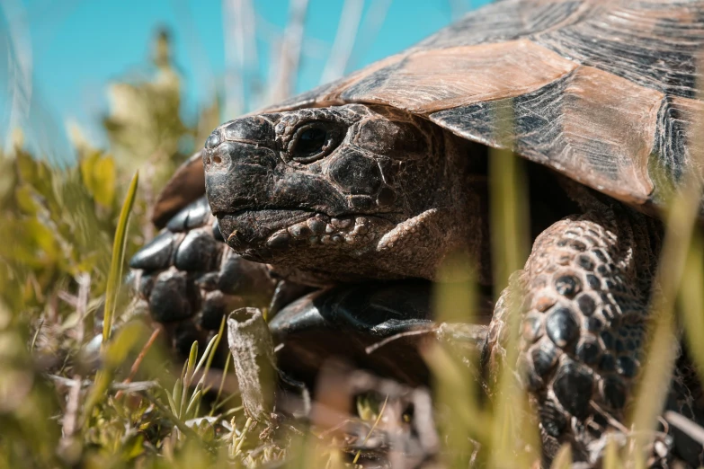
[[[378,17],[379,2],[384,0],[363,1],[361,31],[371,31],[370,22]],[[272,37],[286,25],[289,1],[253,3],[256,50],[265,77]],[[297,91],[319,83],[343,3],[309,0]],[[460,12],[486,3],[389,0],[378,34],[358,36],[347,71],[405,49]],[[31,67],[31,82],[26,83],[31,84],[32,117],[24,123],[28,133],[63,140],[65,122],[72,119],[100,141],[96,123],[107,110],[106,85],[143,71],[149,41],[157,26],[165,26],[173,32],[174,58],[183,75],[184,109],[192,112],[212,96],[213,84],[222,83],[226,64],[223,18],[221,0],[0,0],[0,55],[4,56],[0,89],[8,90],[13,76],[6,59],[8,44],[19,45],[25,65]],[[11,102],[11,94],[0,95],[2,137],[9,127]]]

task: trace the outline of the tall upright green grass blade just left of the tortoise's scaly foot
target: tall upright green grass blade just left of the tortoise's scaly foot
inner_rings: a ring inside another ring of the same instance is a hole
[[[125,246],[127,243],[127,224],[129,222],[129,213],[132,211],[137,187],[139,183],[139,173],[135,173],[132,181],[129,183],[129,189],[125,196],[125,201],[122,203],[120,210],[120,218],[118,218],[118,226],[115,230],[115,240],[112,243],[112,259],[110,262],[110,272],[108,274],[108,286],[105,292],[105,312],[102,318],[102,348],[110,340],[112,331],[112,321],[115,315],[115,305],[117,302],[118,288],[122,279],[122,264],[125,261]]]

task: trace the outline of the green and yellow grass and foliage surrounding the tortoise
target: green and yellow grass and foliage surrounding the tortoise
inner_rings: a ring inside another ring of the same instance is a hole
[[[383,383],[358,393],[345,427],[357,429],[356,435],[323,429],[315,419],[263,425],[249,419],[238,395],[227,389],[229,365],[222,379],[207,379],[222,330],[200,344],[201,353],[194,343],[182,367],[160,346],[129,291],[120,288],[124,260],[154,235],[148,208],[157,190],[218,124],[217,100],[194,123],[180,117],[179,78],[165,33],[154,49],[150,80],[111,87],[111,114],[103,122],[107,149],[90,146],[76,131],[76,164],[57,168],[27,153],[16,135],[13,151],[0,158],[0,466],[350,467],[381,456],[399,461],[394,447],[362,450],[372,436],[393,434],[385,412],[405,399],[384,392]],[[526,240],[516,236],[526,232],[521,172],[510,153],[494,156],[491,171],[501,176],[492,187],[499,226],[495,254],[513,270],[526,250]],[[704,265],[694,230],[700,188],[689,188],[676,196],[668,217],[663,291],[654,301],[661,314],[655,315],[649,352],[654,359],[646,362],[643,390],[668,382],[674,357],[666,351],[673,349],[678,324],[686,326],[692,356],[704,369]],[[503,284],[505,276],[497,281]],[[468,320],[471,295],[469,281],[439,285],[440,320]],[[530,466],[539,459],[538,438],[531,420],[521,418],[526,400],[512,385],[510,370],[499,381],[495,402],[481,399],[478,358],[457,347],[450,341],[423,351],[436,396],[433,419],[423,425],[437,424],[442,436],[428,465]],[[661,394],[638,394],[635,429],[654,428]],[[402,420],[421,419],[417,409]],[[608,447],[606,467],[642,464],[634,447]],[[553,466],[567,467],[569,460],[565,448]]]

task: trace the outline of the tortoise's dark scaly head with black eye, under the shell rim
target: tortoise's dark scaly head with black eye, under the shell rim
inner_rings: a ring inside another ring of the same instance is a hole
[[[208,138],[206,191],[245,259],[324,280],[432,278],[468,245],[467,155],[452,146],[386,107],[248,116]]]

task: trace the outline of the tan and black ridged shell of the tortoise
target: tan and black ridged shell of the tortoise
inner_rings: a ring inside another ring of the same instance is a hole
[[[700,177],[702,44],[702,1],[503,0],[266,111],[393,106],[647,210],[664,181]],[[158,200],[157,225],[203,185],[194,157]]]

